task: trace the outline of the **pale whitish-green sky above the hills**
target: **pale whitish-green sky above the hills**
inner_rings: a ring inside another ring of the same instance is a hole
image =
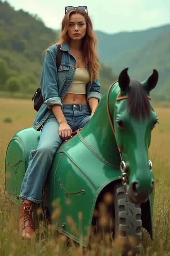
[[[4,0],[3,0],[4,1]],[[87,5],[94,30],[106,33],[145,30],[170,24],[170,0],[7,0],[15,10],[38,14],[49,28],[59,29],[65,6]]]

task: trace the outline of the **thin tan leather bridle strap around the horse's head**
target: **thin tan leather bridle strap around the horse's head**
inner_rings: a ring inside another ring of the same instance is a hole
[[[113,131],[113,134],[114,134],[114,137],[115,137],[115,130],[114,130],[114,126],[113,126],[113,122],[112,122],[112,118],[111,118],[111,114],[110,114],[110,111],[109,111],[109,93],[110,91],[112,90],[112,87],[118,82],[115,81],[109,88],[108,90],[108,93],[107,93],[107,99],[106,99],[106,105],[107,105],[107,113],[108,113],[108,118],[109,118],[109,122],[110,122],[110,126],[112,127],[112,131]],[[122,97],[119,97],[121,94],[121,91],[119,91],[117,97],[116,97],[116,101],[118,100],[122,100],[122,99],[128,99],[128,96],[122,96]],[[151,100],[151,97],[148,96],[148,98]],[[117,142],[116,142],[117,143]],[[121,156],[121,160],[122,160],[122,155],[121,155],[121,148],[119,147],[119,145],[117,144],[117,147],[118,147],[118,151],[119,151],[119,154]]]

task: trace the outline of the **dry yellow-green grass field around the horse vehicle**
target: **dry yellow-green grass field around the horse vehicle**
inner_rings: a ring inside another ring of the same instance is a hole
[[[170,255],[170,106],[155,104],[159,123],[152,132],[149,156],[155,175],[154,242],[143,234],[143,255]],[[51,232],[42,232],[37,243],[20,241],[17,233],[19,208],[4,196],[5,153],[11,137],[19,130],[32,126],[36,111],[31,100],[0,98],[0,256],[81,256],[81,248],[68,249],[65,237],[56,238]],[[6,117],[12,122],[4,122]],[[40,227],[40,231],[42,228]],[[56,243],[57,242],[57,243]],[[95,245],[96,246],[96,245]],[[86,256],[95,256],[95,246]],[[101,247],[100,256],[115,255],[113,250]]]

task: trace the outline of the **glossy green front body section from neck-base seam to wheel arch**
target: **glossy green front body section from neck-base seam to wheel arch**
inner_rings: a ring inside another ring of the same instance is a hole
[[[63,145],[54,157],[49,178],[47,182],[46,206],[51,214],[54,211],[53,200],[60,200],[61,217],[56,224],[57,229],[63,234],[68,235],[75,241],[80,237],[77,230],[82,228],[82,235],[89,238],[91,221],[96,200],[101,190],[114,180],[121,179],[121,171],[107,165],[101,161],[95,154],[84,145],[76,135],[71,141]],[[61,188],[58,179],[61,180],[63,188],[69,192],[78,192],[85,190],[85,194],[79,193],[79,196],[67,193]],[[68,205],[68,199],[71,205]],[[78,226],[78,213],[82,213],[82,226]],[[76,224],[76,231],[73,232],[67,223],[67,216],[71,216]],[[55,221],[54,221],[55,223]],[[65,223],[65,228],[62,224]],[[87,246],[88,241],[84,241]]]

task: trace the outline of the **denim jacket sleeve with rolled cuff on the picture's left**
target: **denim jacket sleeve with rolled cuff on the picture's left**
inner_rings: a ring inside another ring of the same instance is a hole
[[[49,109],[54,104],[61,105],[61,99],[58,96],[58,73],[55,59],[54,52],[48,49],[44,58],[40,81],[44,104]]]

